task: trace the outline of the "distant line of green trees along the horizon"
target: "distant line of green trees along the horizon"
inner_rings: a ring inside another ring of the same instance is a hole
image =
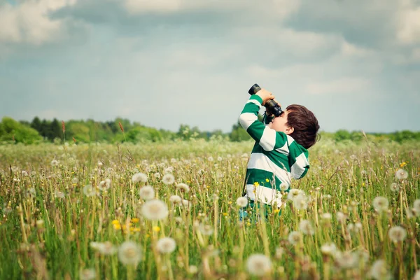
[[[366,135],[366,134],[365,134]],[[365,135],[360,131],[348,132],[338,130],[337,132],[321,132],[321,139],[328,138],[335,141],[363,141]],[[367,133],[372,141],[420,141],[420,132],[408,130],[393,133]],[[158,130],[153,127],[146,127],[141,123],[130,122],[125,118],[116,118],[106,122],[88,120],[69,120],[65,123],[54,118],[53,120],[41,120],[35,117],[31,122],[25,120],[13,120],[4,117],[0,123],[0,144],[22,143],[37,144],[42,142],[53,142],[61,144],[63,141],[75,143],[97,142],[165,142],[190,139],[211,140],[214,138],[228,139],[230,141],[250,140],[248,133],[239,125],[239,122],[232,125],[231,132],[225,133],[221,130],[211,132],[201,131],[198,127],[180,125],[177,132],[170,130]]]

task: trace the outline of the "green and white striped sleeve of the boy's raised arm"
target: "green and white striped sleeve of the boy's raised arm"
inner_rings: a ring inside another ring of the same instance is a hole
[[[287,138],[258,120],[261,104],[261,97],[256,94],[251,95],[239,116],[239,123],[265,151],[273,151],[274,148],[284,146]]]

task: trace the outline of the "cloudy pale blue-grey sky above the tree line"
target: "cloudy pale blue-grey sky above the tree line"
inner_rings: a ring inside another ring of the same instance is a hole
[[[420,131],[419,0],[0,0],[0,118],[229,132],[254,83],[321,131]]]

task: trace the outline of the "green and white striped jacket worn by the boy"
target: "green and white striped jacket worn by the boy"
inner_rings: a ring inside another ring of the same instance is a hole
[[[251,95],[239,123],[255,140],[246,169],[246,197],[280,207],[280,190],[290,187],[291,178],[301,179],[309,169],[308,151],[284,132],[276,132],[258,120],[262,99]]]

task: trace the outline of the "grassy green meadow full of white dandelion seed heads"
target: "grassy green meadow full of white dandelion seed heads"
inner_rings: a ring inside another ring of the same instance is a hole
[[[419,143],[321,139],[239,221],[252,146],[0,146],[0,279],[420,279]]]

